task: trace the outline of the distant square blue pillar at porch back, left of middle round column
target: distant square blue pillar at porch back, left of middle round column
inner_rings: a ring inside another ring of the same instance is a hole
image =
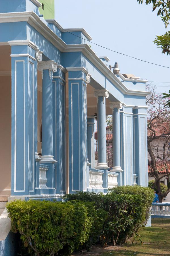
[[[91,163],[90,168],[94,168],[94,118],[87,119],[87,158]]]

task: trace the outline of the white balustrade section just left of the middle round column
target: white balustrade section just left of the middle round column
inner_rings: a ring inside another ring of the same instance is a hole
[[[104,171],[102,170],[89,170],[89,188],[91,189],[103,189],[103,175]]]

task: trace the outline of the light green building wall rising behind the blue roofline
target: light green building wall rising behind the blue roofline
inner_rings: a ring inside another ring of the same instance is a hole
[[[42,6],[39,7],[40,14],[43,14],[45,20],[54,19],[54,0],[38,0],[40,3],[44,4],[44,10]]]

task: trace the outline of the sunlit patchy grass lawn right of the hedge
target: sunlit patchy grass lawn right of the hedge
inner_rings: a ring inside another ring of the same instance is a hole
[[[151,228],[142,228],[139,237],[116,246],[102,256],[111,255],[169,255],[170,256],[170,219],[152,219]],[[140,240],[141,241],[140,241]]]

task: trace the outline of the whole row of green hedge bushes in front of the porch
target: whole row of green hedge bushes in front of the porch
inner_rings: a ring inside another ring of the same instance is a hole
[[[8,203],[12,231],[19,232],[31,255],[70,255],[100,241],[124,243],[149,217],[152,189],[116,187],[107,195],[77,192],[64,202],[13,201]]]

